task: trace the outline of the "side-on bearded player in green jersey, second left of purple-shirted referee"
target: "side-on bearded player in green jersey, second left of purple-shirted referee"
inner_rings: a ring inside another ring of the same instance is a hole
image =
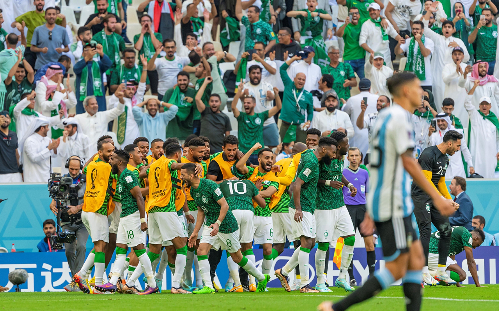
[[[308,279],[308,257],[315,239],[315,200],[317,197],[317,182],[319,179],[319,161],[330,162],[336,156],[336,141],[331,137],[322,137],[317,150],[305,151],[301,154],[300,163],[296,169],[296,178],[293,185],[293,196],[289,207],[291,230],[294,239],[300,239],[300,248],[296,248],[289,261],[282,269],[275,270],[275,276],[280,280],[282,287],[288,292],[287,275],[299,265],[301,289],[300,293],[318,293],[310,287]]]

